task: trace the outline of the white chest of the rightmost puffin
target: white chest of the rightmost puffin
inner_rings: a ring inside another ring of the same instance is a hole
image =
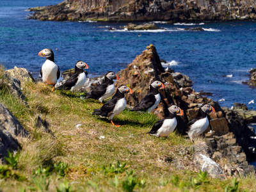
[[[193,138],[194,136],[202,134],[207,129],[208,125],[209,120],[207,116],[205,116],[205,118],[197,120],[194,124],[190,126],[190,129],[188,131],[189,138]]]

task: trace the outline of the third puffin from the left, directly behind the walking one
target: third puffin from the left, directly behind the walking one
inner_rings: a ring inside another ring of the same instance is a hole
[[[92,90],[90,93],[86,93],[84,99],[98,99],[102,104],[104,99],[111,97],[115,92],[115,84],[113,79],[118,80],[119,77],[113,71],[109,71],[105,75],[104,83],[100,84]]]

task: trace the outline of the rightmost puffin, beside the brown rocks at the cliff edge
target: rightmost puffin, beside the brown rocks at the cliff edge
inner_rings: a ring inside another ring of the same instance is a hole
[[[202,134],[209,125],[207,113],[216,112],[210,104],[203,104],[196,118],[188,122],[184,130],[188,133],[189,138],[192,140],[195,136]]]

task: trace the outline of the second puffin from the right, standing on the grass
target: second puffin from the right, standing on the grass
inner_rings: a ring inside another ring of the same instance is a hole
[[[147,134],[156,136],[157,138],[168,137],[169,134],[173,132],[177,126],[176,115],[183,115],[183,111],[178,106],[173,104],[168,108],[168,115],[166,115],[166,117],[162,120],[156,122],[156,124],[153,125],[151,131],[147,132]]]

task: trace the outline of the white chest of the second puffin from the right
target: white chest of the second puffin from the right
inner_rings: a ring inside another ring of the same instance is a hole
[[[164,120],[163,125],[157,130],[156,136],[157,138],[161,137],[166,137],[168,136],[171,132],[174,131],[175,127],[177,126],[177,120],[176,118],[169,118]]]

